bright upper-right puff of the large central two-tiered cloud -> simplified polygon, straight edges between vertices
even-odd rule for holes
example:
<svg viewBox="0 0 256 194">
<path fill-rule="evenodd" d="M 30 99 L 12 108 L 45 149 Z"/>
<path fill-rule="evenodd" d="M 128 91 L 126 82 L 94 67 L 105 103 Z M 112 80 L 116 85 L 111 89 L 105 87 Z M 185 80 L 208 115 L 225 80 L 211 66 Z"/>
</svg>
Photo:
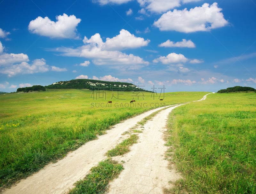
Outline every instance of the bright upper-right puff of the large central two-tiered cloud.
<svg viewBox="0 0 256 194">
<path fill-rule="evenodd" d="M 119 35 L 113 38 L 107 38 L 105 42 L 106 50 L 123 50 L 129 48 L 139 48 L 147 46 L 150 40 L 144 40 L 144 38 L 136 37 L 129 31 L 122 29 Z"/>
</svg>

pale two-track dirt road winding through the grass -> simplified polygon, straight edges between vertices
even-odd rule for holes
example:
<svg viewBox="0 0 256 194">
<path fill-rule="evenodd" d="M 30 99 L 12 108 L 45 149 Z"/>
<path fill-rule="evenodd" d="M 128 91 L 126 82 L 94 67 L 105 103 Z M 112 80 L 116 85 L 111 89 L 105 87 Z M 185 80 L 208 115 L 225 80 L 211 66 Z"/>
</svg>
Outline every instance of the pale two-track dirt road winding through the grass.
<svg viewBox="0 0 256 194">
<path fill-rule="evenodd" d="M 206 96 L 205 96 L 206 97 Z M 202 98 L 203 100 L 205 98 Z M 139 143 L 131 147 L 131 151 L 116 160 L 124 161 L 124 170 L 120 176 L 110 183 L 109 193 L 162 193 L 162 188 L 170 187 L 168 181 L 175 181 L 180 176 L 175 170 L 167 168 L 164 160 L 167 147 L 164 146 L 163 132 L 166 119 L 172 106 L 158 113 L 144 125 L 139 135 Z M 74 187 L 74 183 L 83 179 L 93 166 L 106 159 L 105 153 L 122 142 L 127 136 L 125 131 L 134 127 L 138 121 L 151 113 L 162 109 L 157 108 L 146 113 L 124 120 L 113 126 L 105 135 L 90 141 L 76 151 L 50 163 L 37 173 L 21 180 L 18 184 L 6 189 L 4 194 L 64 194 Z"/>
</svg>

